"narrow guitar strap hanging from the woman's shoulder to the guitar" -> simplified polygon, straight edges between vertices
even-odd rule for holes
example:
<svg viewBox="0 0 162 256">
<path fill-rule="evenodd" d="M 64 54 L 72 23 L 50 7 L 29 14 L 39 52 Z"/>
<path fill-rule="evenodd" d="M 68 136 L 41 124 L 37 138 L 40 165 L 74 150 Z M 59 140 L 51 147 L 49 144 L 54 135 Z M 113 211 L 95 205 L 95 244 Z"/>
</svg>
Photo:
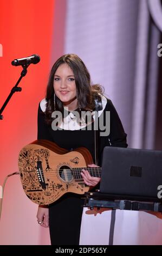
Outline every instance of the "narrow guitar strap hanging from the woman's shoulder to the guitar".
<svg viewBox="0 0 162 256">
<path fill-rule="evenodd" d="M 95 97 L 95 111 L 97 112 L 97 118 L 98 118 L 98 112 L 102 110 L 102 100 L 100 94 Z M 98 165 L 99 162 L 99 119 L 98 121 L 95 119 L 94 124 L 94 152 L 95 152 L 95 164 Z"/>
</svg>

